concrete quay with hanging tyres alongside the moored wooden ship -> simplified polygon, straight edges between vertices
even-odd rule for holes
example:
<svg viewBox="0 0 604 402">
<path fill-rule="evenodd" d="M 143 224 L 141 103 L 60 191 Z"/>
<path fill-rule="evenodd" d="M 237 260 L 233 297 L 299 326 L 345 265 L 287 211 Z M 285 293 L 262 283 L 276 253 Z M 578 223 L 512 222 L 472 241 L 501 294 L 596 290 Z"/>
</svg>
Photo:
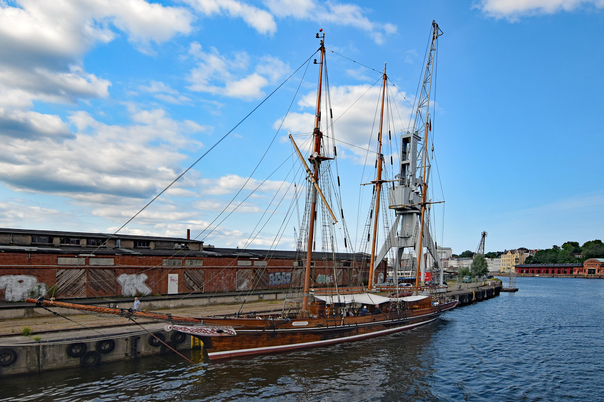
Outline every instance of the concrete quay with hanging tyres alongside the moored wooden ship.
<svg viewBox="0 0 604 402">
<path fill-rule="evenodd" d="M 478 287 L 474 284 L 447 292 L 448 297 L 460 301 L 458 306 L 499 294 L 499 286 Z M 181 316 L 228 315 L 239 309 L 243 313 L 262 313 L 280 311 L 284 298 L 285 294 L 280 292 L 263 292 L 248 296 L 246 303 L 242 305 L 243 298 L 233 294 L 186 298 L 149 297 L 141 298 L 141 308 Z M 132 298 L 79 300 L 76 303 L 130 307 Z M 13 311 L 8 314 L 7 310 Z M 0 304 L 0 316 L 6 313 L 5 315 L 15 317 L 0 321 L 0 377 L 94 366 L 170 353 L 170 348 L 188 350 L 200 346 L 196 342 L 198 340 L 190 335 L 176 331 L 166 332 L 165 324 L 155 321 L 137 320 L 135 323 L 120 316 L 100 318 L 74 310 L 53 310 L 61 316 L 30 303 Z"/>
</svg>

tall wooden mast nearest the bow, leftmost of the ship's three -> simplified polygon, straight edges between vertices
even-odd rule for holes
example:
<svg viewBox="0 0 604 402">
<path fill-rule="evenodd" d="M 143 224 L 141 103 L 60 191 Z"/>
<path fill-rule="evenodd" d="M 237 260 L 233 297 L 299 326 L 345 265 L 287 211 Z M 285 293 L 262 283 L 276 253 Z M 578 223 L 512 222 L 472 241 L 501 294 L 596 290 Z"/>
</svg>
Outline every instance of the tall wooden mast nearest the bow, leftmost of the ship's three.
<svg viewBox="0 0 604 402">
<path fill-rule="evenodd" d="M 319 34 L 316 34 L 319 37 Z M 312 132 L 313 136 L 313 152 L 309 157 L 309 162 L 313 166 L 313 177 L 315 181 L 319 180 L 319 168 L 321 165 L 321 142 L 323 140 L 323 133 L 319 130 L 319 124 L 321 122 L 321 81 L 323 81 L 323 58 L 325 56 L 325 33 L 321 38 L 321 61 L 319 66 L 319 83 L 316 91 L 316 112 L 315 112 L 315 129 Z M 302 294 L 302 315 L 306 316 L 308 307 L 308 297 L 310 293 L 310 269 L 312 262 L 312 249 L 314 244 L 314 232 L 315 232 L 315 219 L 316 219 L 316 194 L 315 187 L 312 187 L 311 204 L 310 204 L 310 217 L 308 223 L 308 242 L 306 245 L 306 266 L 304 268 L 304 289 Z"/>
</svg>

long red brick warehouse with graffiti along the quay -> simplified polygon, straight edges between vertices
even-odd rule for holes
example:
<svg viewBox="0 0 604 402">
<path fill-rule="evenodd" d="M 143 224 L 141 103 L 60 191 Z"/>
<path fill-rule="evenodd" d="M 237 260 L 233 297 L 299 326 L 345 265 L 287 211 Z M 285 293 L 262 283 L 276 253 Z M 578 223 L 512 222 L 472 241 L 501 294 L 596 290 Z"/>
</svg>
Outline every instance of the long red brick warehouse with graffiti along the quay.
<svg viewBox="0 0 604 402">
<path fill-rule="evenodd" d="M 367 254 L 313 253 L 315 286 L 368 278 Z M 295 251 L 204 247 L 178 237 L 0 228 L 0 300 L 95 298 L 301 287 Z M 386 275 L 382 261 L 376 269 Z"/>
</svg>

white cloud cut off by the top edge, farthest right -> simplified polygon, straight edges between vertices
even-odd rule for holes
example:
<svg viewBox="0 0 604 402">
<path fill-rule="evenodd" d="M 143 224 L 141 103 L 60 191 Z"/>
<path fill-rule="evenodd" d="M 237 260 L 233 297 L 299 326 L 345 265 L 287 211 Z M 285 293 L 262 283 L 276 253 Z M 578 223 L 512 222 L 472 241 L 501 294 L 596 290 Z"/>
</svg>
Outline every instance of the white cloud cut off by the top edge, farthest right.
<svg viewBox="0 0 604 402">
<path fill-rule="evenodd" d="M 475 7 L 489 16 L 513 21 L 521 16 L 574 11 L 589 5 L 604 8 L 602 0 L 481 0 Z"/>
</svg>

